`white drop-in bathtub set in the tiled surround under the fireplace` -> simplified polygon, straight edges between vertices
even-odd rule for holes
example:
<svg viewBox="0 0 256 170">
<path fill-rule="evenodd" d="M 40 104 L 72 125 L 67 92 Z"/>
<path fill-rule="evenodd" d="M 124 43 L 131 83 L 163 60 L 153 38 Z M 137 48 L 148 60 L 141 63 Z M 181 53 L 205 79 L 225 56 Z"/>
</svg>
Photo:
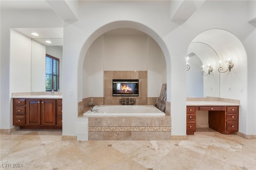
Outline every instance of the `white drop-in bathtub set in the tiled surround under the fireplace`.
<svg viewBox="0 0 256 170">
<path fill-rule="evenodd" d="M 165 116 L 165 113 L 152 105 L 100 105 L 96 111 L 87 111 L 84 116 Z"/>
</svg>

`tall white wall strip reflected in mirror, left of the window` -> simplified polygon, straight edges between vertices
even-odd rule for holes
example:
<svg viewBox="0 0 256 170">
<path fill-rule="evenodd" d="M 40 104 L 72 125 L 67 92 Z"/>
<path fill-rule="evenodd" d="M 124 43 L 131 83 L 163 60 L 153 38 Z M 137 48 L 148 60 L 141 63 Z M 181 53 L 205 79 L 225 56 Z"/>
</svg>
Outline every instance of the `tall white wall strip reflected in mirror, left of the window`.
<svg viewBox="0 0 256 170">
<path fill-rule="evenodd" d="M 45 91 L 45 45 L 32 40 L 31 91 Z"/>
</svg>

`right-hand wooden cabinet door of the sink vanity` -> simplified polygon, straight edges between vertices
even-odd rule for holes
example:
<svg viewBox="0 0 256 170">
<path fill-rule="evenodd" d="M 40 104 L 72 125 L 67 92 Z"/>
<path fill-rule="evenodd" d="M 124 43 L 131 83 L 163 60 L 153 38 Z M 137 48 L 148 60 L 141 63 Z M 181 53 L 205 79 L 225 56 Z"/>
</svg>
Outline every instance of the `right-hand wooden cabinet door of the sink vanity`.
<svg viewBox="0 0 256 170">
<path fill-rule="evenodd" d="M 56 99 L 41 100 L 41 125 L 56 125 Z"/>
</svg>

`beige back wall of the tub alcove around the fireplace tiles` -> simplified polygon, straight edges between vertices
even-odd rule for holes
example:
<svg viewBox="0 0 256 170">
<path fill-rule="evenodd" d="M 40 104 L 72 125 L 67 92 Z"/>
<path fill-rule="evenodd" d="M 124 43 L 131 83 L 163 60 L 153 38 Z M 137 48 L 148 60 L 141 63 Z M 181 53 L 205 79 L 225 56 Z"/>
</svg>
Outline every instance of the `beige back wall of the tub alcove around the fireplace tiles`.
<svg viewBox="0 0 256 170">
<path fill-rule="evenodd" d="M 83 66 L 83 98 L 104 96 L 104 71 L 148 71 L 148 97 L 166 82 L 162 50 L 150 36 L 103 34 L 90 46 Z M 165 71 L 165 73 L 163 73 Z"/>
</svg>

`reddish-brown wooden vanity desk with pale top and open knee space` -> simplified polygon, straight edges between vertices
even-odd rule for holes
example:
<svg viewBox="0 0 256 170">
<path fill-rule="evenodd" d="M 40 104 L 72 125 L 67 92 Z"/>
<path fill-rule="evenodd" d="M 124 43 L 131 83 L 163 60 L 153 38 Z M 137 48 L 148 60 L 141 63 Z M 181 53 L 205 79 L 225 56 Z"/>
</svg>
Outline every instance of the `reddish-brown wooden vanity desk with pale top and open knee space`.
<svg viewBox="0 0 256 170">
<path fill-rule="evenodd" d="M 196 132 L 196 111 L 208 111 L 209 128 L 222 134 L 238 132 L 239 104 L 224 101 L 187 101 L 187 134 Z"/>
</svg>

